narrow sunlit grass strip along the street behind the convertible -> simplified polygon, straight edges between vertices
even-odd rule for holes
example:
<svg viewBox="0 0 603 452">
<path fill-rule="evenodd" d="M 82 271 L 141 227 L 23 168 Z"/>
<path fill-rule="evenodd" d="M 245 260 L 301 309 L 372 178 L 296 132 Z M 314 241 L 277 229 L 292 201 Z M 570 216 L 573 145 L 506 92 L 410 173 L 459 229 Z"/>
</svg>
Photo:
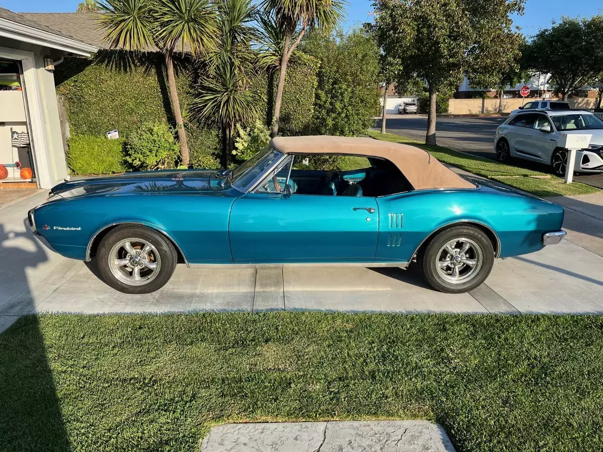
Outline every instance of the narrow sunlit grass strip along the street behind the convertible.
<svg viewBox="0 0 603 452">
<path fill-rule="evenodd" d="M 481 157 L 455 151 L 450 148 L 444 148 L 443 146 L 428 146 L 424 142 L 402 137 L 393 133 L 382 134 L 377 130 L 370 129 L 368 130 L 368 135 L 377 140 L 418 146 L 431 152 L 431 154 L 442 163 L 456 166 L 456 168 L 464 169 L 472 174 L 497 180 L 520 190 L 534 193 L 534 195 L 537 196 L 587 195 L 589 193 L 598 193 L 601 191 L 595 187 L 579 182 L 566 184 L 563 179 L 555 176 L 551 176 L 551 178 L 548 179 L 534 178 L 534 176 L 550 176 L 550 174 L 519 168 L 518 166 L 505 165 L 505 163 L 494 162 L 489 159 L 482 159 Z"/>
</svg>

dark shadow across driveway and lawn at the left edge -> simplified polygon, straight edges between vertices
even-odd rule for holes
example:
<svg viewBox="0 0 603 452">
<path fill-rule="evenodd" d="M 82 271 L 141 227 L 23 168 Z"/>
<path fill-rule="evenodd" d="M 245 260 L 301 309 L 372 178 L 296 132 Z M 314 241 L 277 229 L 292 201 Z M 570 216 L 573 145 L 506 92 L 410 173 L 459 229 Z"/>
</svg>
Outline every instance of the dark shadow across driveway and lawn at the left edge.
<svg viewBox="0 0 603 452">
<path fill-rule="evenodd" d="M 0 331 L 34 309 L 36 294 L 27 269 L 48 259 L 26 225 L 25 231 L 6 231 L 5 224 L 0 224 Z M 0 332 L 0 450 L 71 450 L 34 315 L 21 317 Z"/>
</svg>

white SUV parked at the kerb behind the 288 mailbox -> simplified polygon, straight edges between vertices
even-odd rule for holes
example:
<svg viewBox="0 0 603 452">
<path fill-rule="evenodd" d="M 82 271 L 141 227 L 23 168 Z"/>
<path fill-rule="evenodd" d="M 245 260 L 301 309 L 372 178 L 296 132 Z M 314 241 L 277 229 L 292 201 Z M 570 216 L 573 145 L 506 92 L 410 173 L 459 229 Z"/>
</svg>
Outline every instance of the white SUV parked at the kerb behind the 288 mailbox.
<svg viewBox="0 0 603 452">
<path fill-rule="evenodd" d="M 561 132 L 592 134 L 589 148 L 576 152 L 574 171 L 603 172 L 603 121 L 582 110 L 532 110 L 510 116 L 496 129 L 496 157 L 500 162 L 517 157 L 546 163 L 563 176 L 567 149 L 557 146 Z"/>
</svg>

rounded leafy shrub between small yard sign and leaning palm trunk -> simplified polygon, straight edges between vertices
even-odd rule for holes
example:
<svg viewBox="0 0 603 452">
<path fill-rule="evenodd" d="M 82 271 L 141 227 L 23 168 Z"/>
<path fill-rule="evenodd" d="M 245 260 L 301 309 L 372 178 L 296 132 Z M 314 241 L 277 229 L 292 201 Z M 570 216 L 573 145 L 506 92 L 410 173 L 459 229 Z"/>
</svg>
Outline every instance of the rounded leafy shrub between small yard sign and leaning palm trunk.
<svg viewBox="0 0 603 452">
<path fill-rule="evenodd" d="M 180 155 L 180 144 L 174 138 L 174 130 L 165 122 L 143 124 L 131 134 L 124 146 L 125 161 L 131 169 L 174 168 Z"/>
</svg>

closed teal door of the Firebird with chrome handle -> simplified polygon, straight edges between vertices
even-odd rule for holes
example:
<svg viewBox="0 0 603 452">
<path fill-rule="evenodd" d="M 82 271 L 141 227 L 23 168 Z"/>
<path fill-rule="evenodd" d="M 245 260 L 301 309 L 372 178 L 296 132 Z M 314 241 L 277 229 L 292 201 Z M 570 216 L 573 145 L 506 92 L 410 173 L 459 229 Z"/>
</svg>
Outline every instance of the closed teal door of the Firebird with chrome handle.
<svg viewBox="0 0 603 452">
<path fill-rule="evenodd" d="M 235 263 L 373 262 L 378 227 L 374 198 L 248 193 L 232 207 L 230 248 Z"/>
</svg>

